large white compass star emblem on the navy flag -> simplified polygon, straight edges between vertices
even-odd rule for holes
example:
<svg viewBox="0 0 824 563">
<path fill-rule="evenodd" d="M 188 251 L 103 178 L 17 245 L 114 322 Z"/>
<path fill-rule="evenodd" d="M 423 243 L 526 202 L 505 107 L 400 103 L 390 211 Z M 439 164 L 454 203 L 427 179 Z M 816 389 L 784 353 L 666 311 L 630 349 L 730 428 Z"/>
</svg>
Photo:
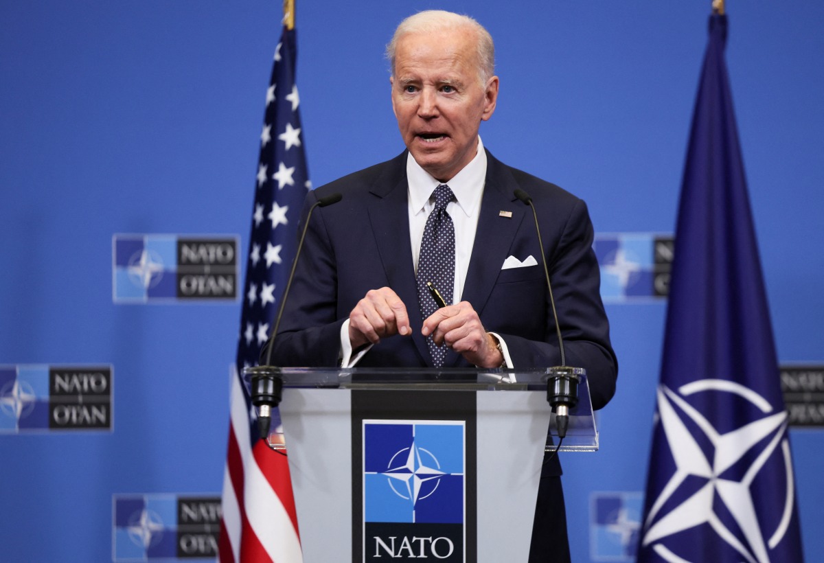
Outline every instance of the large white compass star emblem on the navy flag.
<svg viewBox="0 0 824 563">
<path fill-rule="evenodd" d="M 751 402 L 765 416 L 726 434 L 719 434 L 709 420 L 683 398 L 696 392 L 735 393 Z M 685 418 L 681 418 L 676 406 L 685 413 Z M 750 486 L 765 462 L 775 452 L 775 448 L 782 442 L 784 467 L 792 467 L 792 460 L 789 458 L 789 444 L 784 438 L 787 413 L 785 411 L 772 413 L 770 403 L 756 392 L 739 383 L 722 379 L 698 380 L 680 387 L 678 393 L 662 385 L 658 389 L 658 413 L 676 470 L 649 511 L 646 523 L 648 529 L 644 533 L 643 545 L 654 544 L 653 550 L 667 561 L 684 561 L 670 551 L 661 540 L 706 523 L 723 542 L 728 543 L 747 561 L 759 563 L 769 561 L 767 546 L 775 547 L 783 539 L 792 514 L 795 497 L 792 471 L 787 472 L 783 516 L 767 542 L 764 541 L 761 533 Z M 705 434 L 706 439 L 709 439 L 712 445 L 709 456 L 705 454 L 695 437 L 690 434 L 685 423 L 686 419 L 697 425 Z M 752 456 L 754 461 L 742 472 L 740 480 L 724 476 L 728 469 L 741 463 L 747 453 L 754 454 Z M 686 500 L 667 514 L 659 514 L 667 500 L 681 490 L 686 481 L 694 483 L 696 478 L 705 481 L 695 493 L 689 495 Z M 714 503 L 717 500 L 735 519 L 746 538 L 747 545 L 739 541 L 715 513 Z M 652 523 L 651 526 L 650 523 Z"/>
</svg>

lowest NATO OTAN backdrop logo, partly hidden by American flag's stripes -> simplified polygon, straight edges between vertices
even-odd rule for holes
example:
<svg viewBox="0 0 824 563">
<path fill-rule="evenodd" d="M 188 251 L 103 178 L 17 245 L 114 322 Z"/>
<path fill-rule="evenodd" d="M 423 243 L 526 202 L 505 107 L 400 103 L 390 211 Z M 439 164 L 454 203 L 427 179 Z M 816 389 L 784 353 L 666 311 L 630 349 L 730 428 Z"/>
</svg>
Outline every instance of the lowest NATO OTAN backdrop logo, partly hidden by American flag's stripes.
<svg viewBox="0 0 824 563">
<path fill-rule="evenodd" d="M 214 559 L 218 495 L 113 495 L 112 561 Z"/>
</svg>

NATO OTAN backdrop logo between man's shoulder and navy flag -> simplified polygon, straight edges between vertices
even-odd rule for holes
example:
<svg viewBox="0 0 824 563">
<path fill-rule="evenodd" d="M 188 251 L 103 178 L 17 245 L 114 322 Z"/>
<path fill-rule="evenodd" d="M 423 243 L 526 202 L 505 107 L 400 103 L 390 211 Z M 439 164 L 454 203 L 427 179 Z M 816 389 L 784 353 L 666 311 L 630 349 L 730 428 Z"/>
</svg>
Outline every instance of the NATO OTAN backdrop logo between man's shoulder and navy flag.
<svg viewBox="0 0 824 563">
<path fill-rule="evenodd" d="M 647 232 L 597 234 L 592 249 L 601 267 L 605 302 L 666 298 L 672 270 L 672 235 Z"/>
</svg>

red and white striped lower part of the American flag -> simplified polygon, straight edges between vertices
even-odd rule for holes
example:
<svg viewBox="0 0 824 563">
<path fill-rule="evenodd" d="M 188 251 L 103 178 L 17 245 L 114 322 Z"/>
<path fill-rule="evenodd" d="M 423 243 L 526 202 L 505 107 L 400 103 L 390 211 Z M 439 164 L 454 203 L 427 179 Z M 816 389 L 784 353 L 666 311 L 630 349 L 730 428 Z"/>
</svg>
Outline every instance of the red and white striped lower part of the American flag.
<svg viewBox="0 0 824 563">
<path fill-rule="evenodd" d="M 302 563 L 286 456 L 264 440 L 250 448 L 250 418 L 240 378 L 232 378 L 229 447 L 223 476 L 222 563 Z"/>
</svg>

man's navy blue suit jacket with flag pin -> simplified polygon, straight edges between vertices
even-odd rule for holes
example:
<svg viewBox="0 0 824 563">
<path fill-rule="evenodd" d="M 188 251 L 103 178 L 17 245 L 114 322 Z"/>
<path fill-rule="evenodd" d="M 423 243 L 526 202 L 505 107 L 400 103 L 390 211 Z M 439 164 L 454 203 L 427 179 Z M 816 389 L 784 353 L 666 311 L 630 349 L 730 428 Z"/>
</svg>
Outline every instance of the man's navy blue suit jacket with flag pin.
<svg viewBox="0 0 824 563">
<path fill-rule="evenodd" d="M 410 244 L 406 152 L 344 176 L 307 195 L 311 204 L 334 193 L 343 199 L 317 208 L 288 297 L 273 360 L 280 366 L 338 364 L 340 326 L 370 289 L 393 289 L 405 303 L 411 336 L 392 336 L 358 363 L 369 367 L 432 366 L 419 313 Z M 531 209 L 516 199 L 520 188 L 535 204 L 567 365 L 587 369 L 592 406 L 615 391 L 617 363 L 599 293 L 587 206 L 569 192 L 508 167 L 487 152 L 484 195 L 461 299 L 471 303 L 487 331 L 506 341 L 515 368 L 560 364 L 555 322 L 541 265 Z M 502 216 L 500 211 L 512 213 Z M 301 225 L 302 228 L 302 225 Z M 503 260 L 533 256 L 538 264 L 502 270 Z M 445 367 L 467 366 L 449 350 Z"/>
</svg>

